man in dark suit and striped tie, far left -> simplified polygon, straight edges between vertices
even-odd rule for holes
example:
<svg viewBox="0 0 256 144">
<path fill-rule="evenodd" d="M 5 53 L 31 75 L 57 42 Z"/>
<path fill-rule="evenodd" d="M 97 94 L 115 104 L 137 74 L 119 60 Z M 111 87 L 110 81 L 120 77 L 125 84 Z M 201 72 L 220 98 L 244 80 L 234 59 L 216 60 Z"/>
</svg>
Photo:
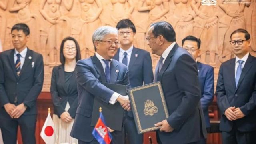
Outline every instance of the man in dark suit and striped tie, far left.
<svg viewBox="0 0 256 144">
<path fill-rule="evenodd" d="M 24 144 L 35 144 L 36 99 L 44 81 L 43 57 L 27 48 L 29 28 L 12 27 L 14 49 L 0 54 L 0 127 L 5 144 L 16 144 L 20 126 Z"/>
</svg>

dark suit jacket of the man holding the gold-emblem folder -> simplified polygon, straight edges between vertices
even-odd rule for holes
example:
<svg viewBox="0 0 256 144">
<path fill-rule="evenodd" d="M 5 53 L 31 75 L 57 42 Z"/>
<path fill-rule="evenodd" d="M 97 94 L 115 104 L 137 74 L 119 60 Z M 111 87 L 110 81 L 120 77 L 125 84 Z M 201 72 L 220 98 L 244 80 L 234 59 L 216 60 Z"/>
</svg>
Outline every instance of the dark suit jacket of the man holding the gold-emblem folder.
<svg viewBox="0 0 256 144">
<path fill-rule="evenodd" d="M 167 122 L 174 128 L 172 132 L 157 131 L 161 142 L 186 144 L 206 138 L 198 68 L 192 56 L 175 44 L 156 81 L 161 81 L 170 114 Z"/>
</svg>

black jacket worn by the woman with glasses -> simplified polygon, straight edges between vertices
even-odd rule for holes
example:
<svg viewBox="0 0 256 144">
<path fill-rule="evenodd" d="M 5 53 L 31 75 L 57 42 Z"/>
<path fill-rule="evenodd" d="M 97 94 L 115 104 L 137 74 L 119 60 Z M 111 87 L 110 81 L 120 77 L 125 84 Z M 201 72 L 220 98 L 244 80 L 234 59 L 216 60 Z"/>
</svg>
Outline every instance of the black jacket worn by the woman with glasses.
<svg viewBox="0 0 256 144">
<path fill-rule="evenodd" d="M 76 108 L 78 106 L 78 96 L 77 96 L 77 84 L 76 84 L 76 74 L 75 72 L 71 77 L 70 85 L 72 88 L 76 89 L 73 94 L 68 94 L 68 87 L 65 84 L 65 73 L 64 65 L 56 66 L 52 70 L 52 81 L 51 81 L 51 95 L 52 103 L 54 106 L 54 114 L 60 115 L 65 112 L 65 107 L 67 102 L 70 104 L 68 113 L 72 118 L 76 116 Z"/>
</svg>

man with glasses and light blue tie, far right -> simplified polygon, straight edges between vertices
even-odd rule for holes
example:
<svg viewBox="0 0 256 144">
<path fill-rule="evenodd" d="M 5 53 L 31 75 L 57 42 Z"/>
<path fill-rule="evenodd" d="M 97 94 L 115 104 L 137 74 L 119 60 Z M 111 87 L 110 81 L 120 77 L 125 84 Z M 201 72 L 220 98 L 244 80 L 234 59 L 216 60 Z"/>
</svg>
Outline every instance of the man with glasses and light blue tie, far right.
<svg viewBox="0 0 256 144">
<path fill-rule="evenodd" d="M 236 56 L 221 64 L 216 86 L 223 144 L 256 142 L 256 58 L 249 54 L 250 34 L 235 30 L 230 45 Z"/>
</svg>

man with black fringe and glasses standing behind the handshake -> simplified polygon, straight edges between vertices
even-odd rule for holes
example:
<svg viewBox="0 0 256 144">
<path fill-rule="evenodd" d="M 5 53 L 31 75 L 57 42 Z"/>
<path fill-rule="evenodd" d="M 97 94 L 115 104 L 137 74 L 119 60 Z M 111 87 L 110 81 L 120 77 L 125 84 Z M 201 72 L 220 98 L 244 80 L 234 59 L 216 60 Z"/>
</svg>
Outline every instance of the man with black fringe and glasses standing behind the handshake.
<svg viewBox="0 0 256 144">
<path fill-rule="evenodd" d="M 118 29 L 120 48 L 114 59 L 128 66 L 131 87 L 152 83 L 153 71 L 150 53 L 133 46 L 133 40 L 136 34 L 134 24 L 131 20 L 124 19 L 117 23 L 116 28 Z M 143 143 L 143 134 L 137 133 L 132 112 L 128 112 L 126 115 L 124 126 L 130 144 Z"/>
</svg>

